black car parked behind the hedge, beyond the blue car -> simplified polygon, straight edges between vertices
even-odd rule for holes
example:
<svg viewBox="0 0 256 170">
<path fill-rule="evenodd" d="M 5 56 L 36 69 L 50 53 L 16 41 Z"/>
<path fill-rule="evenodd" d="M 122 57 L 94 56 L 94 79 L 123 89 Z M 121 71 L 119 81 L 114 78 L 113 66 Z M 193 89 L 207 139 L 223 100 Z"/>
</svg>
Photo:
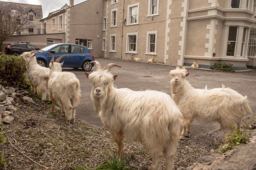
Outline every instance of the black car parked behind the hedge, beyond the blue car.
<svg viewBox="0 0 256 170">
<path fill-rule="evenodd" d="M 9 46 L 5 47 L 5 54 L 11 55 L 20 55 L 23 52 L 40 50 L 40 48 L 31 45 L 30 43 L 14 43 L 9 44 Z"/>
</svg>

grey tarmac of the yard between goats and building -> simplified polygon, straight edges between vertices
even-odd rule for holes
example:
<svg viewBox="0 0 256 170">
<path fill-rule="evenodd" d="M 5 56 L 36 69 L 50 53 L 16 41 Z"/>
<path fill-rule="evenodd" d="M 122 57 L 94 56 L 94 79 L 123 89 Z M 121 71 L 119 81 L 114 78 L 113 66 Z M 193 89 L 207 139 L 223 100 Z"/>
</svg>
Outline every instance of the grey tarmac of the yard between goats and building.
<svg viewBox="0 0 256 170">
<path fill-rule="evenodd" d="M 108 63 L 116 63 L 122 68 L 113 67 L 112 74 L 118 77 L 114 84 L 117 88 L 130 88 L 131 90 L 157 90 L 170 95 L 170 70 L 175 69 L 172 66 L 159 64 L 131 62 L 125 60 L 95 58 L 101 63 L 102 68 Z M 95 70 L 93 67 L 92 71 Z M 82 69 L 65 68 L 63 71 L 74 72 L 80 80 L 81 102 L 76 109 L 76 118 L 82 119 L 89 124 L 103 126 L 98 113 L 93 110 L 93 103 L 90 99 L 91 84 L 84 75 Z M 92 72 L 91 71 L 91 72 Z M 249 105 L 253 113 L 256 113 L 256 71 L 250 72 L 216 72 L 206 70 L 189 69 L 187 80 L 195 88 L 219 88 L 222 84 L 236 90 L 242 95 L 247 95 Z M 191 134 L 201 134 L 214 130 L 219 127 L 218 123 L 199 123 L 193 122 L 191 125 Z"/>
</svg>

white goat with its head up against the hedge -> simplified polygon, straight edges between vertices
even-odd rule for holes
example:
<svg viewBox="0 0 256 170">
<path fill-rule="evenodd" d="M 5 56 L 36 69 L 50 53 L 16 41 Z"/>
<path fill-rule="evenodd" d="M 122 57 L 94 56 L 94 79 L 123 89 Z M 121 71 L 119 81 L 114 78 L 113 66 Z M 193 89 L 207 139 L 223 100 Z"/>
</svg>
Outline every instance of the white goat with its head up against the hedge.
<svg viewBox="0 0 256 170">
<path fill-rule="evenodd" d="M 44 101 L 46 99 L 50 69 L 37 64 L 37 59 L 35 58 L 35 54 L 33 54 L 34 52 L 39 51 L 23 52 L 22 58 L 26 62 L 27 78 L 29 79 L 32 91 L 38 94 L 39 88 L 39 91 L 42 93 L 41 99 Z"/>
</svg>

